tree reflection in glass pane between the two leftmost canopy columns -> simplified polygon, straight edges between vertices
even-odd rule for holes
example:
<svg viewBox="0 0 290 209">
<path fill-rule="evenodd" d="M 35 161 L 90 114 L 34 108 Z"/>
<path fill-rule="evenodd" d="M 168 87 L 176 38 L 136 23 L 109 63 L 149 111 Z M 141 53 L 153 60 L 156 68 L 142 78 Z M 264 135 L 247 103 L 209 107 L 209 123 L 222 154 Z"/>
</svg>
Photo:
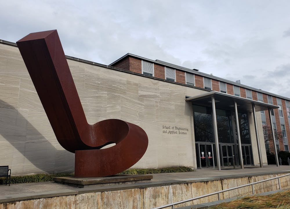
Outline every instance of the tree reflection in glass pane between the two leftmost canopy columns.
<svg viewBox="0 0 290 209">
<path fill-rule="evenodd" d="M 217 115 L 218 138 L 221 143 L 231 143 L 229 118 Z"/>
</svg>

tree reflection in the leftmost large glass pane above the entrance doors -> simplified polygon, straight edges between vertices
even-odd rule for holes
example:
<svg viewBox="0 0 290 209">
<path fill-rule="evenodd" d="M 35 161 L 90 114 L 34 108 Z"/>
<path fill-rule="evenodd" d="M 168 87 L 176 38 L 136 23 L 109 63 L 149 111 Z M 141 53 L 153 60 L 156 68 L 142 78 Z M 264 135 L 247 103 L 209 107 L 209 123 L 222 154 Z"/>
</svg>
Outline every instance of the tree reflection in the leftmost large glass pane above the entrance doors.
<svg viewBox="0 0 290 209">
<path fill-rule="evenodd" d="M 214 142 L 211 114 L 194 113 L 195 141 Z"/>
</svg>

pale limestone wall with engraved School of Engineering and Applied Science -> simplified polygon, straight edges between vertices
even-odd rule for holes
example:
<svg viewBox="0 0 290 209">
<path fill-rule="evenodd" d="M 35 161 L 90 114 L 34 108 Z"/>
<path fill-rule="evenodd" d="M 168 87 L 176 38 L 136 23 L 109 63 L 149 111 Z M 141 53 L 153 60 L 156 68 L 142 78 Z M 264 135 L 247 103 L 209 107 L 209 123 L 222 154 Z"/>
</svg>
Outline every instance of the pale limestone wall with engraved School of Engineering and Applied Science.
<svg viewBox="0 0 290 209">
<path fill-rule="evenodd" d="M 193 114 L 185 96 L 205 91 L 68 60 L 88 123 L 142 127 L 148 149 L 136 168 L 196 168 Z M 12 175 L 74 170 L 55 137 L 17 47 L 0 44 L 0 159 Z"/>
</svg>

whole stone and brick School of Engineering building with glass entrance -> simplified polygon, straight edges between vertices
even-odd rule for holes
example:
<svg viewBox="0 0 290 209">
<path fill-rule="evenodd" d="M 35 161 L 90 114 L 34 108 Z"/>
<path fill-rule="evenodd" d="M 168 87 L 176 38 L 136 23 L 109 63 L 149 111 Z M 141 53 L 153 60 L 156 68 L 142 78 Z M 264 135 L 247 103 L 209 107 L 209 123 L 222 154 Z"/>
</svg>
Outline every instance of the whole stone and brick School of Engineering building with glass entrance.
<svg viewBox="0 0 290 209">
<path fill-rule="evenodd" d="M 287 97 L 132 54 L 108 66 L 67 61 L 88 123 L 121 119 L 147 133 L 135 168 L 267 164 L 273 143 L 265 146 L 262 125 L 270 124 L 269 109 L 284 137 L 276 147 L 289 151 Z M 2 40 L 0 85 L 1 164 L 13 175 L 73 171 L 74 154 L 57 142 L 16 44 Z"/>
</svg>

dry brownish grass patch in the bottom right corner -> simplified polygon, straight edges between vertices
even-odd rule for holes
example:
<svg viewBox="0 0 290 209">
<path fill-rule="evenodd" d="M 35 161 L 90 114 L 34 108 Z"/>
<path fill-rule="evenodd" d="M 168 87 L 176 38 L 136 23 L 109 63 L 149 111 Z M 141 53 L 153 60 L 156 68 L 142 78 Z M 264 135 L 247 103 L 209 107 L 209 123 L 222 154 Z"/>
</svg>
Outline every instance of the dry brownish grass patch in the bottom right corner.
<svg viewBox="0 0 290 209">
<path fill-rule="evenodd" d="M 251 208 L 251 209 L 290 209 L 290 190 L 275 193 L 267 196 L 248 196 L 228 203 L 222 203 L 214 209 L 233 209 L 233 208 Z"/>
</svg>

